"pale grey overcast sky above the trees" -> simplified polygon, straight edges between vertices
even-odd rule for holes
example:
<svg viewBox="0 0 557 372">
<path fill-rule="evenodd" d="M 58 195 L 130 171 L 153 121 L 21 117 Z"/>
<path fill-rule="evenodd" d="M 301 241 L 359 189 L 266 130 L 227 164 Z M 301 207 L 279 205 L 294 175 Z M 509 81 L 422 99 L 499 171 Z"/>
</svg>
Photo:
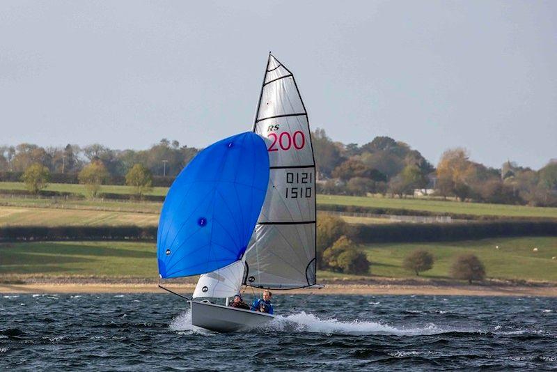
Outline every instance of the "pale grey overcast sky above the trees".
<svg viewBox="0 0 557 372">
<path fill-rule="evenodd" d="M 269 50 L 334 140 L 557 157 L 557 1 L 2 0 L 0 144 L 207 146 L 251 129 Z"/>
</svg>

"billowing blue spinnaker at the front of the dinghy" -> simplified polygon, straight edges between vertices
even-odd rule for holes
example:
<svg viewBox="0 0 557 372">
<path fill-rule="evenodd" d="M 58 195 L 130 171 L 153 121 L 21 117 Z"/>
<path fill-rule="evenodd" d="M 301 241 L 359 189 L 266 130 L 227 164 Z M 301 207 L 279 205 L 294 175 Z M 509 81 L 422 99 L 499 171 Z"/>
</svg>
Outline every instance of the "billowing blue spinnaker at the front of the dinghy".
<svg viewBox="0 0 557 372">
<path fill-rule="evenodd" d="M 168 190 L 157 235 L 162 278 L 223 268 L 244 255 L 269 183 L 269 155 L 246 132 L 198 153 Z"/>
</svg>

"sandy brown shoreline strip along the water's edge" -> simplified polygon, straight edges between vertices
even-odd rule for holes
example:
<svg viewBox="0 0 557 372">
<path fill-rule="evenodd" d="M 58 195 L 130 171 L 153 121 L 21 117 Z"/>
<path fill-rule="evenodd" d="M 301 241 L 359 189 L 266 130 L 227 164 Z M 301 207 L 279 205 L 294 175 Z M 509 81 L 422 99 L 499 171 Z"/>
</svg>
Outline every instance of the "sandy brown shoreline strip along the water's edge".
<svg viewBox="0 0 557 372">
<path fill-rule="evenodd" d="M 191 294 L 194 284 L 169 284 L 179 293 Z M 164 293 L 155 283 L 84 283 L 42 282 L 26 284 L 0 283 L 0 294 L 38 293 Z M 251 289 L 245 293 L 251 295 Z M 258 290 L 255 290 L 258 293 Z M 430 285 L 430 284 L 327 284 L 325 288 L 276 290 L 276 295 L 466 295 L 466 296 L 536 296 L 557 297 L 557 285 L 509 286 L 509 285 Z"/>
</svg>

